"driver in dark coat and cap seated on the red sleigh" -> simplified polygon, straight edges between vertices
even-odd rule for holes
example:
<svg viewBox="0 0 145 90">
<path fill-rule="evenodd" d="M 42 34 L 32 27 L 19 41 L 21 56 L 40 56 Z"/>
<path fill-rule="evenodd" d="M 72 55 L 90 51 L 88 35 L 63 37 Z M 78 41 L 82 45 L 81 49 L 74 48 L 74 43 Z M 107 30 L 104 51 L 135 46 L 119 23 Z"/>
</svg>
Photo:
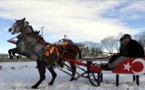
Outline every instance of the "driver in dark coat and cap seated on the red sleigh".
<svg viewBox="0 0 145 90">
<path fill-rule="evenodd" d="M 102 70 L 112 70 L 120 62 L 125 61 L 128 58 L 144 57 L 144 49 L 136 40 L 133 40 L 129 34 L 124 34 L 122 38 L 123 38 L 122 55 L 112 63 L 108 63 L 106 65 L 101 64 L 100 67 Z"/>
</svg>

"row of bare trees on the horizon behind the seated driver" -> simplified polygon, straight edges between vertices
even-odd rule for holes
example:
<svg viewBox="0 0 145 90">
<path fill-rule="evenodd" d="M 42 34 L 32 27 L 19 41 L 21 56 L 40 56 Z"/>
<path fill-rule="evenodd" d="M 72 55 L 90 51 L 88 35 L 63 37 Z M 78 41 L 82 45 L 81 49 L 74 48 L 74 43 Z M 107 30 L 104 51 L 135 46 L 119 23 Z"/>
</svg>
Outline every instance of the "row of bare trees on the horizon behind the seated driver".
<svg viewBox="0 0 145 90">
<path fill-rule="evenodd" d="M 119 40 L 123 35 L 123 33 L 119 33 L 117 36 L 105 37 L 100 43 L 89 41 L 83 43 L 85 46 L 82 48 L 82 56 L 105 57 L 114 53 L 118 53 L 120 47 Z M 138 33 L 135 36 L 132 36 L 132 38 L 138 41 L 145 49 L 145 32 Z"/>
</svg>

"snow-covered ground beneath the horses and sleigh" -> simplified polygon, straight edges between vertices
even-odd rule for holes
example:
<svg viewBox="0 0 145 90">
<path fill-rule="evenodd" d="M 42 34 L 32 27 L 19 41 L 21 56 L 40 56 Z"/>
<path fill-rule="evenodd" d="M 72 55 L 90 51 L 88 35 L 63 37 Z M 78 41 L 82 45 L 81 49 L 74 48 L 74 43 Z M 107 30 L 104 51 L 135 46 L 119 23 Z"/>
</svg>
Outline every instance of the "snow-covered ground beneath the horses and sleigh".
<svg viewBox="0 0 145 90">
<path fill-rule="evenodd" d="M 36 62 L 0 63 L 0 90 L 34 90 L 31 86 L 39 80 Z M 55 69 L 58 76 L 53 86 L 49 86 L 51 74 L 47 70 L 46 80 L 37 90 L 145 90 L 145 76 L 140 77 L 140 86 L 132 81 L 132 75 L 120 75 L 120 85 L 115 86 L 115 74 L 104 74 L 100 87 L 93 87 L 88 79 L 80 78 L 70 82 L 70 76 Z"/>
</svg>

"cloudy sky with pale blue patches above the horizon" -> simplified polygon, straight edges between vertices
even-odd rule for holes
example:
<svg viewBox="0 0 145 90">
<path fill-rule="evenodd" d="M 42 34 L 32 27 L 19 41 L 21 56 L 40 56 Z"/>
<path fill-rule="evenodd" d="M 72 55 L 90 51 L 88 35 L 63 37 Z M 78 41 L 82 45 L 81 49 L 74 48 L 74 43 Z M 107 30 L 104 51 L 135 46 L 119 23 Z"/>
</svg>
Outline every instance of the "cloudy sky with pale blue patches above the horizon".
<svg viewBox="0 0 145 90">
<path fill-rule="evenodd" d="M 145 0 L 0 0 L 0 53 L 15 45 L 8 32 L 15 19 L 26 18 L 44 39 L 56 42 L 67 35 L 74 42 L 100 42 L 108 36 L 145 31 Z"/>
</svg>

